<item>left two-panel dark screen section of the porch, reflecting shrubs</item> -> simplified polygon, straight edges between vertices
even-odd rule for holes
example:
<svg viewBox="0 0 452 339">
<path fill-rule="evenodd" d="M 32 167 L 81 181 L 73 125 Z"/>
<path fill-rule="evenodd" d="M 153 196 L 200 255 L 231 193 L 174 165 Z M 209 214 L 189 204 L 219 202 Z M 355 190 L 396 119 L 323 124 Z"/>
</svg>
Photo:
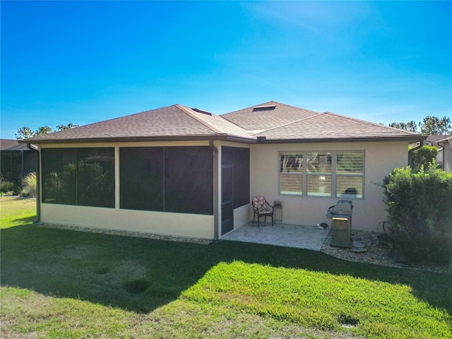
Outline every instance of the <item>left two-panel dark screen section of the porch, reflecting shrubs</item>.
<svg viewBox="0 0 452 339">
<path fill-rule="evenodd" d="M 114 148 L 44 148 L 42 202 L 114 208 Z"/>
</svg>

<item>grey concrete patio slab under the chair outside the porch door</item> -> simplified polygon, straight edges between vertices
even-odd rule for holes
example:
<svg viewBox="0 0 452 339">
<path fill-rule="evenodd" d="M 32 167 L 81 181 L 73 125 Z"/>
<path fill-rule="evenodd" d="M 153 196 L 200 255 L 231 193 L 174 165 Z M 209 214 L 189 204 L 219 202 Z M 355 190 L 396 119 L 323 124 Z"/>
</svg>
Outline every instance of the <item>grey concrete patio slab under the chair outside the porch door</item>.
<svg viewBox="0 0 452 339">
<path fill-rule="evenodd" d="M 242 227 L 233 230 L 221 238 L 236 242 L 254 242 L 275 246 L 296 247 L 297 249 L 311 249 L 320 251 L 328 236 L 329 230 L 319 230 L 317 226 L 300 226 L 288 224 L 275 224 L 271 222 L 248 222 Z"/>
</svg>

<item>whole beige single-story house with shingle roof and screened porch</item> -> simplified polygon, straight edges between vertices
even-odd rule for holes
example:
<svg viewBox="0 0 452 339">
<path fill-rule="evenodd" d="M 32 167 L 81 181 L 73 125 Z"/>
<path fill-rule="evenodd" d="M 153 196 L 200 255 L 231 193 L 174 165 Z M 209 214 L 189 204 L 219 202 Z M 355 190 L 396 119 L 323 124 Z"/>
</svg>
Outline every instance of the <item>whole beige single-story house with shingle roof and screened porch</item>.
<svg viewBox="0 0 452 339">
<path fill-rule="evenodd" d="M 20 141 L 38 145 L 44 222 L 216 239 L 252 220 L 316 225 L 351 199 L 353 228 L 386 220 L 381 183 L 424 136 L 279 102 L 223 115 L 173 105 Z"/>
</svg>

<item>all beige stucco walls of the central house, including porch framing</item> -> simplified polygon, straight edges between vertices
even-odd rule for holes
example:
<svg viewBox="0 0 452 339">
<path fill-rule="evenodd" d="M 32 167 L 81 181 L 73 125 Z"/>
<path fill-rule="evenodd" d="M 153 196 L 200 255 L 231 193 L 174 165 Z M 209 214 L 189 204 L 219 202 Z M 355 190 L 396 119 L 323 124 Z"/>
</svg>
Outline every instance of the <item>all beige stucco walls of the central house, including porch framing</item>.
<svg viewBox="0 0 452 339">
<path fill-rule="evenodd" d="M 221 234 L 221 199 L 214 199 L 217 212 L 213 215 L 193 215 L 182 213 L 162 213 L 142 210 L 119 209 L 119 147 L 209 145 L 208 141 L 155 142 L 155 143 L 95 143 L 44 145 L 45 148 L 68 147 L 114 147 L 115 149 L 115 208 L 93 208 L 86 206 L 65 206 L 42 203 L 41 220 L 62 225 L 79 225 L 111 230 L 132 230 L 155 234 L 172 234 L 184 237 L 213 239 Z M 312 198 L 278 195 L 278 153 L 282 151 L 337 151 L 364 150 L 364 199 L 353 201 L 353 228 L 376 230 L 379 222 L 386 220 L 382 202 L 383 189 L 374 183 L 381 182 L 393 168 L 403 167 L 408 162 L 408 144 L 405 142 L 386 143 L 293 143 L 293 144 L 244 144 L 215 141 L 218 161 L 221 164 L 221 146 L 250 148 L 250 198 L 265 196 L 269 202 L 283 203 L 283 222 L 295 225 L 316 225 L 330 222 L 324 218 L 326 209 L 337 198 Z M 221 183 L 221 165 L 218 169 Z M 214 176 L 215 177 L 215 176 Z M 221 185 L 214 192 L 221 197 Z M 215 194 L 215 193 L 214 193 Z M 252 220 L 252 209 L 248 204 L 234 210 L 234 229 Z M 217 227 L 217 232 L 215 232 Z"/>
</svg>

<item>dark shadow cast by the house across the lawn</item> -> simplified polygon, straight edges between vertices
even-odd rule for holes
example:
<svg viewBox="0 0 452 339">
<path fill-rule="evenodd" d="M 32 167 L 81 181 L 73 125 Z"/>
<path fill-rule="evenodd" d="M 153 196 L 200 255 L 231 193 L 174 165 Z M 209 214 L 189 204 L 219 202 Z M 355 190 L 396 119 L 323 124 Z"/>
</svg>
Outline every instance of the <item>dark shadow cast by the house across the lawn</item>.
<svg viewBox="0 0 452 339">
<path fill-rule="evenodd" d="M 410 285 L 413 294 L 452 314 L 452 275 L 350 263 L 316 251 L 242 242 L 212 245 L 55 230 L 1 230 L 1 285 L 83 299 L 138 313 L 177 299 L 220 262 L 302 268 Z"/>
</svg>

